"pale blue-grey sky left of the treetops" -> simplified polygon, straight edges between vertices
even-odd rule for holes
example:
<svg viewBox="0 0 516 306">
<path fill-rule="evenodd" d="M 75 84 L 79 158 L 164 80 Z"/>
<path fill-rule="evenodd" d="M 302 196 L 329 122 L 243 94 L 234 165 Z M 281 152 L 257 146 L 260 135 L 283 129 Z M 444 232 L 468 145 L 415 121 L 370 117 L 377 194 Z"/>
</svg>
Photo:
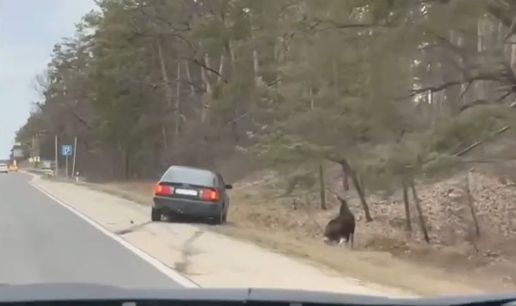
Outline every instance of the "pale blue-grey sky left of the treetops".
<svg viewBox="0 0 516 306">
<path fill-rule="evenodd" d="M 73 36 L 75 23 L 93 8 L 93 0 L 0 0 L 0 160 L 40 99 L 32 84 L 53 45 Z"/>
</svg>

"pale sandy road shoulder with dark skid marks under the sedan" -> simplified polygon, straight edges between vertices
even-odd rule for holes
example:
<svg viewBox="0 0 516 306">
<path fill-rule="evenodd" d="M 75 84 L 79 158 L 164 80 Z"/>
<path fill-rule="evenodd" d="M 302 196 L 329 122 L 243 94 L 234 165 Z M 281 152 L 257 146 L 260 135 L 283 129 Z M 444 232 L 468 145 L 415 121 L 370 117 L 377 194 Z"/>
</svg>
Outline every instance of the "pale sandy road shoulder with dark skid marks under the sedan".
<svg viewBox="0 0 516 306">
<path fill-rule="evenodd" d="M 150 208 L 86 186 L 35 176 L 32 185 L 202 287 L 285 288 L 414 296 L 216 233 L 208 225 L 150 222 Z"/>
</svg>

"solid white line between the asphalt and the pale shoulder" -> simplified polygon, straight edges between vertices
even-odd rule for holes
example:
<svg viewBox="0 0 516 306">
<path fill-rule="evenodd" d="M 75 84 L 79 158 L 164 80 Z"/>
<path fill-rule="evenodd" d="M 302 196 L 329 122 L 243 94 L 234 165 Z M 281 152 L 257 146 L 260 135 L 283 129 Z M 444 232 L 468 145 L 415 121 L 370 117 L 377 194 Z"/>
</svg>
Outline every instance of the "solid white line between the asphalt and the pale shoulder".
<svg viewBox="0 0 516 306">
<path fill-rule="evenodd" d="M 34 179 L 34 177 L 33 177 L 33 179 Z M 116 234 L 112 233 L 111 231 L 106 229 L 106 227 L 103 227 L 101 224 L 99 224 L 95 220 L 93 220 L 93 219 L 89 218 L 88 216 L 82 214 L 77 209 L 75 209 L 75 208 L 71 207 L 70 205 L 64 203 L 60 199 L 57 199 L 56 196 L 53 196 L 52 194 L 49 194 L 49 192 L 47 192 L 46 190 L 40 188 L 39 186 L 34 185 L 34 183 L 32 183 L 32 180 L 29 183 L 34 188 L 36 188 L 37 190 L 39 190 L 40 192 L 42 192 L 43 194 L 48 196 L 50 199 L 52 199 L 53 201 L 56 201 L 56 203 L 59 203 L 63 207 L 66 207 L 66 209 L 69 209 L 71 212 L 73 212 L 74 214 L 76 214 L 77 216 L 79 216 L 80 218 L 85 220 L 86 222 L 88 222 L 90 225 L 95 227 L 95 229 L 98 229 L 99 231 L 101 231 L 102 233 L 108 235 L 110 238 L 112 238 L 116 242 L 119 242 L 119 244 L 122 244 L 123 246 L 125 246 L 125 248 L 127 248 L 130 251 L 132 251 L 132 253 L 138 255 L 140 258 L 145 260 L 145 262 L 148 262 L 149 264 L 151 264 L 154 268 L 156 268 L 160 272 L 164 273 L 164 275 L 167 275 L 168 277 L 170 277 L 176 283 L 179 283 L 180 285 L 183 285 L 184 287 L 187 287 L 187 288 L 198 288 L 198 287 L 200 287 L 197 283 L 195 283 L 191 279 L 188 279 L 187 277 L 184 277 L 183 275 L 181 275 L 177 271 L 173 270 L 172 268 L 170 268 L 166 264 L 163 264 L 158 259 L 156 259 L 155 257 L 151 256 L 149 253 L 145 253 L 140 248 L 137 248 L 136 246 L 134 246 L 134 245 L 130 244 L 129 242 L 127 242 L 127 240 L 121 238 L 119 235 L 116 235 Z"/>
</svg>

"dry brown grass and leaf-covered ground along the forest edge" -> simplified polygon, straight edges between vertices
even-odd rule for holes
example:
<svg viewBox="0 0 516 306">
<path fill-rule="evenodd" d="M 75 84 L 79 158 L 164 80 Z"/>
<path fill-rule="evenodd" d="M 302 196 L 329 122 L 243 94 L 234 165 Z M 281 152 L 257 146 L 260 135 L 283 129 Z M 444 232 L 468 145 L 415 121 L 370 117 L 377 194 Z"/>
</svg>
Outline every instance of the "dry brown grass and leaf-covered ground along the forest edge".
<svg viewBox="0 0 516 306">
<path fill-rule="evenodd" d="M 514 292 L 516 290 L 516 188 L 494 175 L 473 171 L 439 183 L 418 184 L 418 196 L 430 234 L 422 239 L 415 207 L 413 231 L 405 230 L 400 194 L 368 197 L 373 222 L 365 222 L 353 194 L 345 194 L 358 220 L 356 248 L 349 251 L 322 242 L 338 205 L 332 196 L 342 185 L 338 169 L 328 175 L 328 210 L 319 209 L 316 190 L 284 189 L 277 173 L 261 171 L 235 182 L 230 191 L 228 225 L 215 230 L 250 240 L 279 253 L 317 263 L 342 275 L 410 290 L 421 295 Z M 465 203 L 465 177 L 480 226 L 474 234 Z M 103 184 L 101 188 L 150 205 L 154 182 Z"/>
</svg>

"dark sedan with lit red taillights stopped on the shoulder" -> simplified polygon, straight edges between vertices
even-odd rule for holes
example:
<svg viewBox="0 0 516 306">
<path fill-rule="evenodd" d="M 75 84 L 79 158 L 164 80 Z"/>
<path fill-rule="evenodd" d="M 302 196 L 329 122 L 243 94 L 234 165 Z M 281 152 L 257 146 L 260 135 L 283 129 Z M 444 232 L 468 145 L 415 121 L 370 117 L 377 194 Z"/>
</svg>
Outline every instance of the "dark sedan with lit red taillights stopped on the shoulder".
<svg viewBox="0 0 516 306">
<path fill-rule="evenodd" d="M 209 218 L 214 224 L 225 222 L 230 198 L 219 173 L 202 168 L 171 166 L 154 190 L 151 220 L 166 216 Z"/>
</svg>

